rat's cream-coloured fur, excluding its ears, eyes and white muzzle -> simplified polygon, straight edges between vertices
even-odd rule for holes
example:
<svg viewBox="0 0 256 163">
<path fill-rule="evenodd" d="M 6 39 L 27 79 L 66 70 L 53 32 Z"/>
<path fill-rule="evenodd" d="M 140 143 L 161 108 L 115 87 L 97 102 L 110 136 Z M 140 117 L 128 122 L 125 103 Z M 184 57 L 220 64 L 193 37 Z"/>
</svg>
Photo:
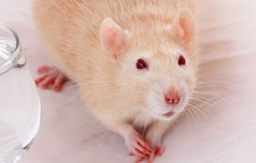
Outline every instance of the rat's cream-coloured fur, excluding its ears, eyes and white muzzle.
<svg viewBox="0 0 256 163">
<path fill-rule="evenodd" d="M 191 92 L 196 79 L 199 57 L 196 41 L 186 43 L 165 30 L 180 8 L 188 8 L 195 14 L 195 1 L 34 0 L 33 3 L 35 25 L 49 58 L 80 86 L 88 110 L 124 138 L 137 119 L 137 127 L 148 126 L 146 141 L 153 149 L 161 143 L 160 138 L 171 121 L 156 119 L 154 123 L 155 117 L 148 110 L 149 88 L 156 80 L 174 85 L 184 80 Z M 100 27 L 106 17 L 131 34 L 118 54 L 105 50 L 100 42 Z M 137 58 L 145 53 L 152 54 L 148 60 L 149 72 L 138 72 Z M 185 69 L 177 66 L 177 53 L 185 56 Z"/>
</svg>

